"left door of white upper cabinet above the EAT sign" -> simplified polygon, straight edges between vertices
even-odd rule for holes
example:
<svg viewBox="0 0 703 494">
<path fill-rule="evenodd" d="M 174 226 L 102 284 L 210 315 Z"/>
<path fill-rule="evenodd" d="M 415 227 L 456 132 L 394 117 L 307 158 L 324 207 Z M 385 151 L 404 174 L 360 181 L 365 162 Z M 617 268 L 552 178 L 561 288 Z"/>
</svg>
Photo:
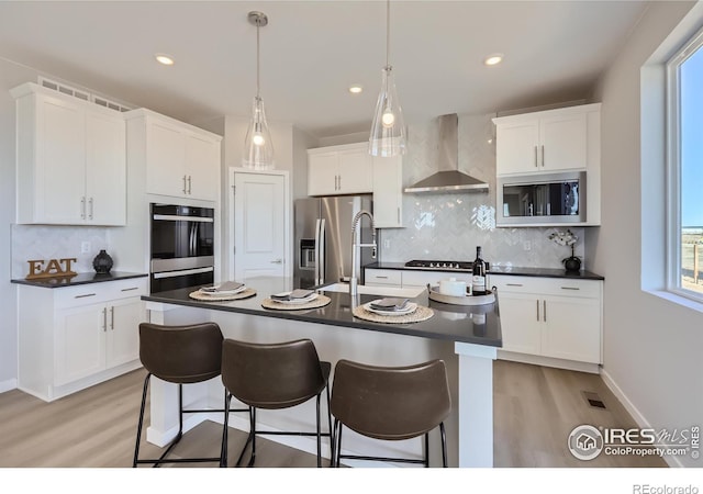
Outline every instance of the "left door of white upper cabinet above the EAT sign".
<svg viewBox="0 0 703 494">
<path fill-rule="evenodd" d="M 33 193 L 36 194 L 37 207 L 34 223 L 83 223 L 86 112 L 79 104 L 48 97 L 37 97 L 36 104 L 36 175 Z"/>
</svg>

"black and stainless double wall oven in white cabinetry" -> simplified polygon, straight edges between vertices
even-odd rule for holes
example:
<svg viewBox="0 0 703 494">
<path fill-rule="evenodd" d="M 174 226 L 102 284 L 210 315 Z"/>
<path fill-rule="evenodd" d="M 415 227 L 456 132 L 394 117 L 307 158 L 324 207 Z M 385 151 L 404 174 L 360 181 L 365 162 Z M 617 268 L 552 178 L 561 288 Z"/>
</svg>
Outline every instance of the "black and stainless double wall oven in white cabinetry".
<svg viewBox="0 0 703 494">
<path fill-rule="evenodd" d="M 150 204 L 152 293 L 212 283 L 214 209 Z"/>
</svg>

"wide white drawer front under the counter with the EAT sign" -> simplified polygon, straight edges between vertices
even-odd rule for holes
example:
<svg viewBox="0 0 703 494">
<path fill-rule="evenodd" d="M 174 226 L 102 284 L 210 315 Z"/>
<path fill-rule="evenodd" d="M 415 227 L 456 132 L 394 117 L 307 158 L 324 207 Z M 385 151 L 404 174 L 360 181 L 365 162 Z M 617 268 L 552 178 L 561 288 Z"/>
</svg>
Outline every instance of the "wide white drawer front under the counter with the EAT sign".
<svg viewBox="0 0 703 494">
<path fill-rule="evenodd" d="M 54 305 L 56 308 L 65 308 L 102 303 L 110 300 L 141 296 L 146 293 L 147 280 L 148 278 L 132 278 L 129 280 L 52 289 L 56 291 L 54 294 Z"/>
</svg>

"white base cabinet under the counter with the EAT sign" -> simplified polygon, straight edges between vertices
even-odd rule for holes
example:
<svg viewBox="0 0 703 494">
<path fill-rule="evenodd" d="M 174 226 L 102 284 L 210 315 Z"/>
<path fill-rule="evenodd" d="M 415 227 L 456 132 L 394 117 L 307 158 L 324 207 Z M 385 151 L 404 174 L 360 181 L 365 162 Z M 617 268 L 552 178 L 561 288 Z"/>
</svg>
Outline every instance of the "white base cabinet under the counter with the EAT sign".
<svg viewBox="0 0 703 494">
<path fill-rule="evenodd" d="M 147 278 L 19 287 L 18 388 L 53 401 L 141 367 Z"/>
</svg>

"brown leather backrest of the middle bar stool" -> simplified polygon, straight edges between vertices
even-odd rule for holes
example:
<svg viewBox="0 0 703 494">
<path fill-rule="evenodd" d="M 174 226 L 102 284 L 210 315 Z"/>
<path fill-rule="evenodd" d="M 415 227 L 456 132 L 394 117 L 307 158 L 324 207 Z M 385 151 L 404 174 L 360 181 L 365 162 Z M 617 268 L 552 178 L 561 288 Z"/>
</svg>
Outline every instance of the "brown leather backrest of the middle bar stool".
<svg viewBox="0 0 703 494">
<path fill-rule="evenodd" d="M 241 402 L 269 409 L 303 403 L 326 383 L 310 339 L 277 344 L 225 339 L 222 382 Z"/>
</svg>

